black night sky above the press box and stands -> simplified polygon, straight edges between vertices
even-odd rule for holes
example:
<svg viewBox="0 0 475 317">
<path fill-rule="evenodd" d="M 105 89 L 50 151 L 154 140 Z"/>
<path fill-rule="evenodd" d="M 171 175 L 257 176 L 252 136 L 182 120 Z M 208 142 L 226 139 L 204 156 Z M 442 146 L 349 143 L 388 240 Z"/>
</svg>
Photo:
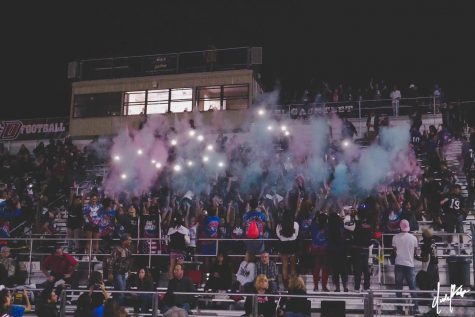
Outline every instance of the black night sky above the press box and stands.
<svg viewBox="0 0 475 317">
<path fill-rule="evenodd" d="M 198 50 L 209 41 L 262 46 L 266 90 L 276 79 L 299 91 L 311 78 L 358 85 L 375 77 L 438 82 L 453 98 L 475 97 L 473 1 L 46 2 L 2 10 L 2 119 L 68 115 L 69 61 Z"/>
</svg>

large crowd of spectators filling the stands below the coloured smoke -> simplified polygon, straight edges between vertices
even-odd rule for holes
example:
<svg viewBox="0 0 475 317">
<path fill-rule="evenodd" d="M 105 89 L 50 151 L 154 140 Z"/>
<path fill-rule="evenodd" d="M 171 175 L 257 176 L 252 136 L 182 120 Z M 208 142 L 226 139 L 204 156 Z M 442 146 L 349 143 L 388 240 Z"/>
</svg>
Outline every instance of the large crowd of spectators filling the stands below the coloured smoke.
<svg viewBox="0 0 475 317">
<path fill-rule="evenodd" d="M 377 83 L 372 83 L 372 87 L 384 88 Z M 336 94 L 343 93 L 335 90 Z M 444 148 L 450 139 L 462 138 L 456 133 L 459 131 L 454 126 L 456 123 L 445 121 L 439 128 L 430 126 L 421 131 L 420 117 L 412 119 L 408 147 L 422 160 L 423 173 L 395 175 L 392 182 L 379 186 L 369 195 L 351 199 L 340 199 L 333 194 L 333 175 L 321 184 L 311 184 L 307 175 L 297 175 L 288 190 L 265 186 L 266 176 L 261 175 L 247 191 L 242 191 L 239 175 L 230 171 L 217 174 L 201 192 L 174 188 L 170 181 L 173 175 L 165 170 L 156 186 L 146 193 L 107 196 L 100 184 L 84 193 L 76 184 L 98 160 L 87 148 L 78 149 L 69 138 L 51 140 L 46 146 L 40 143 L 32 152 L 22 146 L 16 154 L 8 153 L 2 146 L 0 238 L 21 235 L 25 224 L 31 225 L 34 233 L 56 237 L 57 206 L 66 204 L 68 244 L 41 245 L 54 247 L 48 250 L 51 255 L 41 261 L 46 279 L 41 287 L 48 291 L 41 296 L 42 305 L 38 307 L 40 311 L 49 311 L 55 306 L 54 294 L 58 291 L 55 293 L 53 287 L 57 281 L 64 280 L 73 289 L 78 287 L 86 277 L 78 270 L 78 260 L 103 261 L 105 281 L 99 272 L 89 276 L 89 291 L 78 300 L 77 316 L 106 316 L 104 311 L 108 309 L 119 314 L 127 301 L 133 303 L 135 312 L 148 312 L 151 293 L 132 296 L 114 293 L 113 299 L 109 299 L 104 285 L 110 283 L 117 291 L 151 292 L 156 289 L 160 272 L 168 272 L 170 278 L 159 305 L 164 313 L 172 307 L 189 312 L 195 304 L 194 297 L 174 295 L 174 292 L 193 292 L 204 287 L 205 291 L 213 292 L 257 292 L 262 295 L 258 301 L 259 313 L 268 316 L 273 299 L 265 294 L 281 291 L 305 294 L 299 276 L 306 273 L 313 275 L 314 291 L 330 291 L 330 274 L 332 291 L 348 292 L 349 274 L 354 276 L 354 291 L 368 290 L 371 249 L 380 243 L 394 246 L 397 287 L 402 287 L 404 278 L 411 288 L 415 287 L 411 279 L 414 258 L 431 267 L 429 277 L 433 286 L 438 273 L 437 257 L 434 259 L 430 253 L 432 234 L 424 233 L 422 253 L 419 255 L 417 251 L 415 257 L 407 249 L 417 247 L 417 240 L 414 242 L 406 236 L 410 235 L 409 231 L 418 230 L 418 220 L 432 220 L 435 230 L 462 233 L 462 221 L 469 211 L 469 200 L 473 203 L 475 184 L 469 182 L 470 197 L 464 199 L 445 161 Z M 343 129 L 352 130 L 347 124 Z M 378 142 L 377 135 L 370 118 L 368 137 Z M 231 140 L 220 135 L 216 148 L 224 151 Z M 463 142 L 463 169 L 471 175 L 475 133 Z M 280 150 L 285 151 L 285 147 Z M 236 154 L 238 159 L 245 157 L 244 147 L 236 147 L 236 151 L 242 152 Z M 386 233 L 386 241 L 378 236 L 381 232 Z M 459 237 L 459 241 L 450 237 L 453 247 L 449 245 L 448 249 L 463 243 Z M 25 284 L 26 270 L 10 253 L 10 248 L 22 246 L 12 245 L 8 239 L 0 243 L 2 284 L 7 287 Z M 403 255 L 401 250 L 407 252 Z M 408 252 L 412 254 L 409 259 Z M 169 257 L 157 256 L 160 254 Z M 278 259 L 272 257 L 276 254 Z M 243 259 L 229 255 L 243 255 Z M 203 262 L 208 279 L 192 281 L 184 273 L 184 263 L 196 262 Z M 280 268 L 276 262 L 281 263 Z M 2 301 L 2 311 L 11 311 L 7 307 L 11 302 L 9 292 L 2 291 Z M 250 305 L 246 300 L 246 313 Z M 29 304 L 25 307 L 28 310 Z M 308 305 L 289 299 L 283 307 L 288 312 L 306 314 Z"/>
</svg>

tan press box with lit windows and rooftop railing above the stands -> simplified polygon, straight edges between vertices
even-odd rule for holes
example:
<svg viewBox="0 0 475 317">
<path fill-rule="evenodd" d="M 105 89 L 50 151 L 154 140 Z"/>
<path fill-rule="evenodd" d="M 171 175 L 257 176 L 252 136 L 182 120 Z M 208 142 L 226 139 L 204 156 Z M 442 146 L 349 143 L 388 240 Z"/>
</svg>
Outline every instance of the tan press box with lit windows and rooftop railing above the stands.
<svg viewBox="0 0 475 317">
<path fill-rule="evenodd" d="M 146 117 L 173 122 L 194 111 L 202 124 L 211 124 L 219 111 L 225 130 L 242 129 L 262 93 L 261 62 L 256 47 L 72 62 L 69 134 L 112 136 Z"/>
</svg>

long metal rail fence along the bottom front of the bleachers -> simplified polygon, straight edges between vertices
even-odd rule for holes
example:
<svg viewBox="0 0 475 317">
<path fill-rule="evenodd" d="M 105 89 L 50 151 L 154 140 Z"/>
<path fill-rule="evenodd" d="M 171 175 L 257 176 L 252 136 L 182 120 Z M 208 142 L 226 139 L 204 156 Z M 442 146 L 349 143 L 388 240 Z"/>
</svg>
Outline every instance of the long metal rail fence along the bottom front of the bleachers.
<svg viewBox="0 0 475 317">
<path fill-rule="evenodd" d="M 11 291 L 15 291 L 16 289 L 10 289 Z M 43 289 L 32 289 L 29 290 L 30 293 L 39 293 Z M 58 294 L 58 301 L 59 301 L 59 316 L 71 316 L 76 309 L 76 305 L 68 304 L 68 298 L 74 296 L 74 293 L 79 294 L 84 291 L 84 289 L 63 289 L 61 294 Z M 123 295 L 151 295 L 151 305 L 150 309 L 147 313 L 140 313 L 136 314 L 141 316 L 152 316 L 157 317 L 161 316 L 162 313 L 160 312 L 160 294 L 164 294 L 165 289 L 156 290 L 156 291 L 136 291 L 136 290 L 124 290 L 124 291 L 115 291 L 115 290 L 106 290 L 108 294 L 123 294 Z M 266 297 L 272 298 L 273 301 L 276 303 L 275 310 L 277 315 L 277 309 L 279 309 L 279 302 L 282 298 L 287 299 L 296 299 L 296 298 L 303 298 L 309 300 L 311 303 L 316 303 L 311 307 L 312 311 L 319 310 L 318 303 L 324 302 L 325 300 L 328 301 L 345 301 L 352 306 L 352 311 L 358 314 L 361 314 L 365 317 L 373 317 L 375 315 L 384 315 L 385 313 L 390 313 L 392 310 L 396 310 L 397 308 L 404 309 L 404 308 L 413 308 L 414 301 L 417 301 L 420 307 L 428 307 L 429 309 L 438 309 L 443 313 L 451 313 L 451 310 L 456 307 L 456 309 L 464 309 L 466 313 L 471 314 L 471 309 L 475 307 L 475 298 L 472 295 L 469 295 L 467 289 L 461 290 L 462 292 L 457 293 L 457 295 L 453 296 L 450 301 L 443 300 L 445 294 L 451 294 L 451 290 L 449 288 L 439 288 L 437 291 L 423 291 L 423 290 L 396 290 L 396 289 L 388 289 L 388 290 L 369 290 L 361 293 L 326 293 L 326 292 L 316 292 L 314 294 L 307 294 L 307 295 L 293 295 L 287 294 L 285 292 L 280 294 L 265 294 Z M 102 292 L 100 290 L 93 290 L 92 292 Z M 398 297 L 396 294 L 400 292 L 403 295 L 411 295 L 411 297 Z M 223 293 L 212 293 L 212 292 L 174 292 L 175 295 L 190 295 L 193 296 L 195 301 L 206 301 L 210 297 L 214 296 L 223 296 Z M 413 295 L 414 294 L 414 295 Z M 36 294 L 35 296 L 38 296 Z M 258 297 L 262 296 L 255 293 L 226 293 L 226 296 L 246 296 L 252 297 L 250 301 L 252 303 L 252 313 L 250 316 L 257 317 L 258 316 Z M 413 295 L 413 296 L 412 296 Z M 35 297 L 34 296 L 34 297 Z M 32 298 L 33 299 L 33 298 Z M 224 301 L 223 301 L 224 302 Z M 438 303 L 438 305 L 435 305 Z M 33 304 L 33 303 L 32 303 Z M 387 309 L 388 306 L 391 309 Z M 36 309 L 36 307 L 35 307 Z M 320 308 L 321 310 L 321 308 Z M 348 310 L 347 310 L 348 311 Z M 196 311 L 194 314 L 200 315 L 201 308 L 197 305 Z M 464 313 L 462 315 L 459 313 L 458 316 L 465 316 Z"/>
</svg>

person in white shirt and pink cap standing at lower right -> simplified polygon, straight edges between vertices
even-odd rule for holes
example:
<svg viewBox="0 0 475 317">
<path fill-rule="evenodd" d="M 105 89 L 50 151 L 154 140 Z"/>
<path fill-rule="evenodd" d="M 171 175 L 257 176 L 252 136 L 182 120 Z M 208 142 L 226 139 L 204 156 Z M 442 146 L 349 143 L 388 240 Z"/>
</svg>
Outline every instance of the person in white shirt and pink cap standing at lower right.
<svg viewBox="0 0 475 317">
<path fill-rule="evenodd" d="M 419 245 L 417 238 L 409 233 L 410 225 L 406 219 L 401 220 L 401 233 L 393 237 L 393 249 L 396 254 L 394 268 L 396 289 L 402 289 L 403 281 L 406 280 L 409 289 L 416 289 L 416 277 L 414 271 L 414 255 Z M 396 293 L 397 297 L 402 297 L 401 292 Z M 417 297 L 416 293 L 411 293 L 412 297 Z M 398 311 L 402 310 L 398 307 Z M 413 314 L 419 313 L 417 301 L 414 301 Z"/>
</svg>

